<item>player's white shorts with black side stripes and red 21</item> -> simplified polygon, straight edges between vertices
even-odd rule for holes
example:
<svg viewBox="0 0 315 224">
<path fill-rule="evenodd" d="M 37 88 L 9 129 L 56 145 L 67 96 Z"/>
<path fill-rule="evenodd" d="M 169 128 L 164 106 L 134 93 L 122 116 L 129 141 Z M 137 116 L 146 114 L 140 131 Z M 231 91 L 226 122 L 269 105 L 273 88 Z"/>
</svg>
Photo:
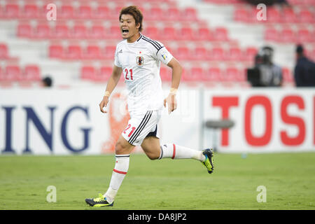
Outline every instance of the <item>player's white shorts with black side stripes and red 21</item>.
<svg viewBox="0 0 315 224">
<path fill-rule="evenodd" d="M 146 137 L 158 135 L 158 123 L 161 111 L 146 111 L 131 115 L 127 127 L 123 131 L 123 137 L 133 146 L 139 146 Z"/>
</svg>

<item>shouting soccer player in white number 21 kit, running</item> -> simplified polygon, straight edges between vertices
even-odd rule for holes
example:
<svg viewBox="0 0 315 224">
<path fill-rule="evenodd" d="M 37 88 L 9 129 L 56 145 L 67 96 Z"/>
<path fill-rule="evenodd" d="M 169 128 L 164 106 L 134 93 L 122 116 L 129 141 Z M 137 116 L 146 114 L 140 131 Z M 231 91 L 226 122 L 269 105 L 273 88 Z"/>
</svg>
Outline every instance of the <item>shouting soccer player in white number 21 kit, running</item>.
<svg viewBox="0 0 315 224">
<path fill-rule="evenodd" d="M 198 151 L 176 144 L 160 144 L 158 122 L 163 106 L 167 105 L 169 113 L 176 109 L 176 91 L 182 68 L 162 43 L 141 34 L 142 19 L 143 15 L 137 6 L 129 6 L 120 11 L 120 31 L 125 40 L 116 47 L 113 73 L 99 108 L 102 113 L 107 113 L 104 107 L 109 103 L 111 92 L 123 73 L 128 90 L 130 120 L 116 142 L 116 163 L 108 190 L 104 195 L 99 194 L 99 197 L 85 199 L 92 207 L 113 206 L 118 189 L 127 174 L 134 146 L 140 145 L 151 160 L 195 159 L 202 162 L 209 174 L 214 171 L 211 149 Z M 172 69 L 172 87 L 165 99 L 160 78 L 161 62 Z"/>
</svg>

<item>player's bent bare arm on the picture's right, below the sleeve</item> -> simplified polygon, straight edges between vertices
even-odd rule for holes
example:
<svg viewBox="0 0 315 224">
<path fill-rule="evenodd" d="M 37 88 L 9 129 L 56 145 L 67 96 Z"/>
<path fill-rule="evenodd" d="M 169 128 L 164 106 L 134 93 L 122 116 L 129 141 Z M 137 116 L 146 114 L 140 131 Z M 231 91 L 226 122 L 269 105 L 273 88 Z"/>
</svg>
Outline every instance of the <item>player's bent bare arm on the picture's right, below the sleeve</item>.
<svg viewBox="0 0 315 224">
<path fill-rule="evenodd" d="M 169 95 L 164 99 L 164 106 L 167 104 L 168 111 L 171 113 L 177 108 L 176 92 L 179 88 L 179 83 L 181 82 L 183 68 L 175 57 L 169 61 L 167 66 L 172 69 L 172 86 Z"/>
</svg>

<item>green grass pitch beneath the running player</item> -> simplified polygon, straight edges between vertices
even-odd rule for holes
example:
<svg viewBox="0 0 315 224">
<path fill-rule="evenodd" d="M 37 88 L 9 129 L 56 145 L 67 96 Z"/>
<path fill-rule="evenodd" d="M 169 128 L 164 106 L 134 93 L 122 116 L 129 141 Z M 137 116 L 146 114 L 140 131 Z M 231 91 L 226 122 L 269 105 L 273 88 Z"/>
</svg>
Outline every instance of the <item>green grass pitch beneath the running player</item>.
<svg viewBox="0 0 315 224">
<path fill-rule="evenodd" d="M 214 174 L 196 160 L 132 154 L 114 207 L 89 207 L 114 164 L 114 155 L 0 156 L 0 209 L 315 209 L 315 153 L 216 153 Z M 46 201 L 48 186 L 57 202 Z M 257 202 L 258 186 L 266 202 Z"/>
</svg>

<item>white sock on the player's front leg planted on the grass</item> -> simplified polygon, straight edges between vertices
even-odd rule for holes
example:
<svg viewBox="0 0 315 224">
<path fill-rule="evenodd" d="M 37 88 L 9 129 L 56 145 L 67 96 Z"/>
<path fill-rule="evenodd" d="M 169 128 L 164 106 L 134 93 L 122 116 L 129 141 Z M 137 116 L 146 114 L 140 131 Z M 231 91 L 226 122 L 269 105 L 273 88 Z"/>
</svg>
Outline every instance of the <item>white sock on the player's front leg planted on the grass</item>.
<svg viewBox="0 0 315 224">
<path fill-rule="evenodd" d="M 118 189 L 127 174 L 129 168 L 130 155 L 116 155 L 115 168 L 111 175 L 111 183 L 109 183 L 109 189 L 104 194 L 107 202 L 111 203 L 115 200 Z"/>
</svg>

